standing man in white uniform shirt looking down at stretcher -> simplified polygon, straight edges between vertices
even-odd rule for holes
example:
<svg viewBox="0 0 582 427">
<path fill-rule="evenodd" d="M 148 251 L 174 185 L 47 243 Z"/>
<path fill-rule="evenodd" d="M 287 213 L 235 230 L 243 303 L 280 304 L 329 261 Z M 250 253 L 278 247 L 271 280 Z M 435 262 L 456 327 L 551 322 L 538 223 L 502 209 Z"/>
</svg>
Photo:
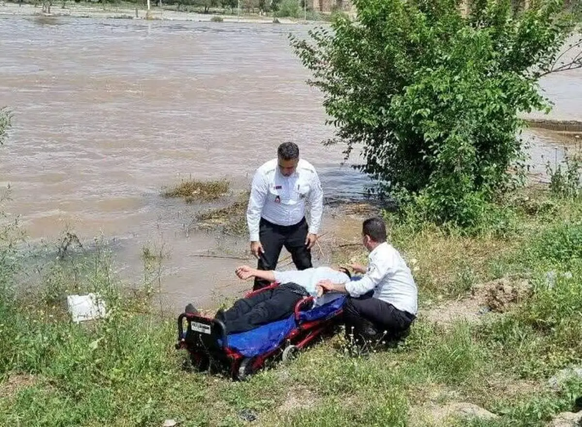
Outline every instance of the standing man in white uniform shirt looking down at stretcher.
<svg viewBox="0 0 582 427">
<path fill-rule="evenodd" d="M 306 201 L 311 218 L 305 218 Z M 283 142 L 277 158 L 259 167 L 251 186 L 247 225 L 251 252 L 258 259 L 258 270 L 275 270 L 281 249 L 291 253 L 297 270 L 311 264 L 313 247 L 321 224 L 323 192 L 315 168 L 299 159 L 299 147 Z M 253 289 L 268 285 L 255 277 Z"/>
</svg>

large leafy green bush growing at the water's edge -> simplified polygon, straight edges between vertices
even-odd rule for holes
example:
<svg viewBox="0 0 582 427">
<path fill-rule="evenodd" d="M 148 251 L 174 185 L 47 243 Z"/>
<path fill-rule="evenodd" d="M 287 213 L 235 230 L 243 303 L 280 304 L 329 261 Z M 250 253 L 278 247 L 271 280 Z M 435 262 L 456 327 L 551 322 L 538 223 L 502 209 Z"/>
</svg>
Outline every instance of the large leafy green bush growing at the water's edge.
<svg viewBox="0 0 582 427">
<path fill-rule="evenodd" d="M 355 0 L 357 17 L 291 36 L 361 170 L 421 219 L 473 227 L 523 155 L 520 112 L 549 109 L 538 78 L 572 30 L 560 1 Z M 580 59 L 569 64 L 580 66 Z M 409 209 L 410 211 L 410 209 Z"/>
</svg>

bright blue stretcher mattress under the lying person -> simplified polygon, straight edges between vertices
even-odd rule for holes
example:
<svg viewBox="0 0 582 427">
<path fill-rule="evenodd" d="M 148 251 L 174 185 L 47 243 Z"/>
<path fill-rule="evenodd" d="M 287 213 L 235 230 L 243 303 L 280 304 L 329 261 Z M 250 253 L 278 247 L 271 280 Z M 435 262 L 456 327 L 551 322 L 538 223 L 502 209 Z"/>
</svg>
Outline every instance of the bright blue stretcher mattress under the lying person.
<svg viewBox="0 0 582 427">
<path fill-rule="evenodd" d="M 324 320 L 338 311 L 345 299 L 345 295 L 340 295 L 327 304 L 301 311 L 300 320 Z M 236 349 L 245 357 L 253 357 L 275 349 L 295 327 L 295 315 L 292 314 L 286 319 L 259 326 L 251 331 L 231 333 L 226 340 L 230 348 Z"/>
</svg>

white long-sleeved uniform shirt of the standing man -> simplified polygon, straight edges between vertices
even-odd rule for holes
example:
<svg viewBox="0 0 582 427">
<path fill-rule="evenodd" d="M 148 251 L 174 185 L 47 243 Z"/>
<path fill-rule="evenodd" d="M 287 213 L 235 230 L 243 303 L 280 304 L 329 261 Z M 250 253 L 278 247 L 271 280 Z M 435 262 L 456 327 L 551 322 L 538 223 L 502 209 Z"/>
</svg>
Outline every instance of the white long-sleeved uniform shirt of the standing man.
<svg viewBox="0 0 582 427">
<path fill-rule="evenodd" d="M 294 225 L 305 216 L 305 202 L 310 201 L 309 232 L 317 234 L 323 213 L 323 192 L 315 168 L 307 160 L 299 159 L 297 168 L 289 177 L 279 170 L 278 160 L 269 160 L 259 167 L 253 177 L 247 225 L 251 242 L 258 242 L 261 217 L 277 225 Z"/>
</svg>

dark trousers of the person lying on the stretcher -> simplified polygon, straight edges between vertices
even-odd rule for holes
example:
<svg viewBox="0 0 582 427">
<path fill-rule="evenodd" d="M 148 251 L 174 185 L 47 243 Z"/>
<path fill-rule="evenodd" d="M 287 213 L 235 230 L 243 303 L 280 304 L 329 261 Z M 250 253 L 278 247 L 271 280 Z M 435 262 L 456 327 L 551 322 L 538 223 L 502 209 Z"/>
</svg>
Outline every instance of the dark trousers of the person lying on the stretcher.
<svg viewBox="0 0 582 427">
<path fill-rule="evenodd" d="M 304 296 L 306 290 L 294 283 L 263 290 L 249 298 L 237 300 L 216 317 L 226 326 L 226 333 L 250 331 L 260 325 L 281 320 L 293 313 L 295 304 Z"/>
</svg>

